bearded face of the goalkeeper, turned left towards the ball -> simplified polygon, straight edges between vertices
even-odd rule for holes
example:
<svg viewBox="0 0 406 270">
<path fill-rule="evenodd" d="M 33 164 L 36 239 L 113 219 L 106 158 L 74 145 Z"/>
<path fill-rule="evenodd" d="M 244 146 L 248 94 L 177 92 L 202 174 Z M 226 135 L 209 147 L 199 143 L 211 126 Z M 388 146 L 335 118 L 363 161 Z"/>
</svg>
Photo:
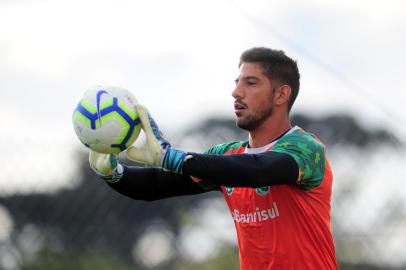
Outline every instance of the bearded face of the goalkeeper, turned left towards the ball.
<svg viewBox="0 0 406 270">
<path fill-rule="evenodd" d="M 243 63 L 232 92 L 239 128 L 252 131 L 272 115 L 271 82 L 257 63 Z"/>
</svg>

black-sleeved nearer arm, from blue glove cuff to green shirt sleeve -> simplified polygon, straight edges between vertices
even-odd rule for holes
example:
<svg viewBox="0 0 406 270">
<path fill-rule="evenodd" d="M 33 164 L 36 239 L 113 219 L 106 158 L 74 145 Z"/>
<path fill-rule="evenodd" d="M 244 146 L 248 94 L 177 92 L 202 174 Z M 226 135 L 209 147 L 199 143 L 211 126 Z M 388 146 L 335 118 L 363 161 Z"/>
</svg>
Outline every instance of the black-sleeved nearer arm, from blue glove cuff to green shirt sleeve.
<svg viewBox="0 0 406 270">
<path fill-rule="evenodd" d="M 258 188 L 277 184 L 293 184 L 299 169 L 288 154 L 205 155 L 192 153 L 182 172 L 229 187 Z"/>
</svg>

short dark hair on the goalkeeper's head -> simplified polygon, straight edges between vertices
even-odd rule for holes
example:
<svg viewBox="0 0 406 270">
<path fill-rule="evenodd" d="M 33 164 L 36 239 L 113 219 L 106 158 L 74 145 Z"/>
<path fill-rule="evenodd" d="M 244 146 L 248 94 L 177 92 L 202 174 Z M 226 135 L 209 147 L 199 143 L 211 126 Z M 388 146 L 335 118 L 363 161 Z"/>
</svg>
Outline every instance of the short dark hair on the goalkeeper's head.
<svg viewBox="0 0 406 270">
<path fill-rule="evenodd" d="M 248 49 L 241 54 L 238 67 L 244 62 L 260 64 L 264 74 L 270 81 L 290 86 L 292 89 L 292 94 L 288 103 L 288 111 L 290 111 L 299 93 L 300 87 L 300 74 L 296 61 L 287 56 L 284 51 L 265 47 L 255 47 Z"/>
</svg>

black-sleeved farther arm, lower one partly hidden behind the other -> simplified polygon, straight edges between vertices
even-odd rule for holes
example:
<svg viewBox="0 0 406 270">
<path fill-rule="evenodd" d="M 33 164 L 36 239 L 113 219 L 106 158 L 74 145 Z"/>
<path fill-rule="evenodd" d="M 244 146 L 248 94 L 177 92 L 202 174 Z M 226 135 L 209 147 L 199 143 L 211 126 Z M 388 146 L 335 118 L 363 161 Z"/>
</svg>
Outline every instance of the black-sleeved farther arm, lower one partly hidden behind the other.
<svg viewBox="0 0 406 270">
<path fill-rule="evenodd" d="M 124 166 L 120 181 L 109 183 L 117 192 L 136 200 L 153 201 L 206 192 L 187 175 L 158 168 Z"/>
</svg>

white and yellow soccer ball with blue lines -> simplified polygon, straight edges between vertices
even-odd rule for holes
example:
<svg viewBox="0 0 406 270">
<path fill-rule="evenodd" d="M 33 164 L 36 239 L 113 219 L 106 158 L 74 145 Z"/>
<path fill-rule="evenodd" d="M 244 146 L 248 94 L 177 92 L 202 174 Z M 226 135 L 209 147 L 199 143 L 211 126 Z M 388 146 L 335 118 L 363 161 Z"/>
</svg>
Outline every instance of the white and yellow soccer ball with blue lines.
<svg viewBox="0 0 406 270">
<path fill-rule="evenodd" d="M 99 153 L 124 151 L 141 131 L 136 105 L 134 96 L 124 88 L 99 85 L 88 89 L 73 111 L 77 137 Z"/>
</svg>

